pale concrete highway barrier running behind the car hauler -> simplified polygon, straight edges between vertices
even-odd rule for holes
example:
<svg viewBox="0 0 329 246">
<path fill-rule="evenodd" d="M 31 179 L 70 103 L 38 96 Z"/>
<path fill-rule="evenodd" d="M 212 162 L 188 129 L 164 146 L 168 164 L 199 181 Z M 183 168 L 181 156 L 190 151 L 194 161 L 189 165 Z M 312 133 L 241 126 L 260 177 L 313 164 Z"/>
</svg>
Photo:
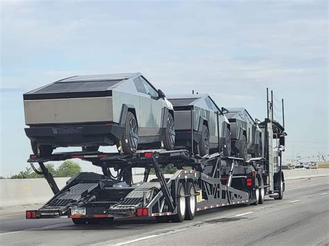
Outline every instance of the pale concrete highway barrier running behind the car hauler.
<svg viewBox="0 0 329 246">
<path fill-rule="evenodd" d="M 300 179 L 303 177 L 329 176 L 329 169 L 283 170 L 285 179 Z M 171 177 L 171 175 L 165 175 Z M 150 175 L 149 179 L 154 179 Z M 55 178 L 59 188 L 65 186 L 68 177 Z M 134 175 L 135 183 L 141 182 L 143 175 Z M 27 204 L 44 204 L 53 193 L 45 179 L 0 179 L 0 207 L 16 207 Z"/>
</svg>

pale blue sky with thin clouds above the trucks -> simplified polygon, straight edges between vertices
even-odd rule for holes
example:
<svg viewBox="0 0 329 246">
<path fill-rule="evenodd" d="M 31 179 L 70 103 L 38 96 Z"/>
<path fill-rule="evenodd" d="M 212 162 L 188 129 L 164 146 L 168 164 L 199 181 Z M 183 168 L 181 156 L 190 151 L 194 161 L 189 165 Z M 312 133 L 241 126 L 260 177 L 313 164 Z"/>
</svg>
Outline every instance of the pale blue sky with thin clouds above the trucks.
<svg viewBox="0 0 329 246">
<path fill-rule="evenodd" d="M 328 1 L 0 4 L 1 176 L 28 166 L 22 94 L 98 73 L 139 71 L 165 94 L 194 89 L 259 119 L 269 87 L 285 99 L 283 161 L 329 154 Z"/>
</svg>

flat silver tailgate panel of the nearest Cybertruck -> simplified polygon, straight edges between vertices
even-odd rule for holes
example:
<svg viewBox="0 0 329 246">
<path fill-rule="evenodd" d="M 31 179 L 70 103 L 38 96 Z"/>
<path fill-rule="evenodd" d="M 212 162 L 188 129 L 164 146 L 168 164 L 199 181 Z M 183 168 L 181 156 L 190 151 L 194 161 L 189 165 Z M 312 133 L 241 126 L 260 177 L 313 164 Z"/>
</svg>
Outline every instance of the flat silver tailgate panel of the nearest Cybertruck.
<svg viewBox="0 0 329 246">
<path fill-rule="evenodd" d="M 26 125 L 112 121 L 112 97 L 24 100 Z"/>
</svg>

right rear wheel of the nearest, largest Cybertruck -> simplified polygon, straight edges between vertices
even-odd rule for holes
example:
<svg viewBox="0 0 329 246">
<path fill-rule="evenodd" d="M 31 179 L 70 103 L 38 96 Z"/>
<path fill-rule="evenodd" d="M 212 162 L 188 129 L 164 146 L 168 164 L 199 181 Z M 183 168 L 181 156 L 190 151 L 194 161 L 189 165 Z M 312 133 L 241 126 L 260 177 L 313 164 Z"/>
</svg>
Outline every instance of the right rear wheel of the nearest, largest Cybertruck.
<svg viewBox="0 0 329 246">
<path fill-rule="evenodd" d="M 136 152 L 138 146 L 138 126 L 136 118 L 132 112 L 127 113 L 126 125 L 121 143 L 122 150 L 124 150 L 125 154 L 133 155 L 133 153 Z"/>
</svg>

